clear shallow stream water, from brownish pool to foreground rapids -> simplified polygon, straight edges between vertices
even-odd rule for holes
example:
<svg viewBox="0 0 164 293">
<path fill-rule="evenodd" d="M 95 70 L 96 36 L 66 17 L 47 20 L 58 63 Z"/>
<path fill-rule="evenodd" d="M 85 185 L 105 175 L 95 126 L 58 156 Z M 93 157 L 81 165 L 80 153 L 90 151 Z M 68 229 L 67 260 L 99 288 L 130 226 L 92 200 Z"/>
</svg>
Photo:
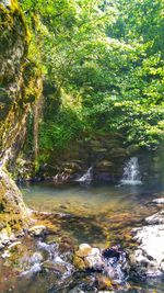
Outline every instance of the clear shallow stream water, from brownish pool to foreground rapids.
<svg viewBox="0 0 164 293">
<path fill-rule="evenodd" d="M 162 196 L 164 185 L 142 183 L 83 187 L 80 182 L 65 185 L 49 182 L 25 184 L 22 191 L 30 209 L 49 212 L 42 213 L 40 222 L 50 225 L 54 233 L 45 239 L 22 238 L 19 256 L 15 259 L 0 260 L 1 293 L 97 292 L 90 286 L 93 277 L 74 272 L 69 253 L 61 252 L 58 240 L 71 239 L 73 245 L 87 243 L 101 248 L 116 244 L 120 244 L 122 248 L 133 246 L 131 228 L 140 226 L 145 216 L 157 211 L 157 207 L 149 203 L 152 199 Z M 77 285 L 82 289 L 83 283 L 85 289 L 80 291 Z M 126 292 L 164 292 L 162 280 L 143 284 L 136 281 L 132 284 L 136 289 Z M 73 291 L 74 286 L 77 289 Z"/>
</svg>

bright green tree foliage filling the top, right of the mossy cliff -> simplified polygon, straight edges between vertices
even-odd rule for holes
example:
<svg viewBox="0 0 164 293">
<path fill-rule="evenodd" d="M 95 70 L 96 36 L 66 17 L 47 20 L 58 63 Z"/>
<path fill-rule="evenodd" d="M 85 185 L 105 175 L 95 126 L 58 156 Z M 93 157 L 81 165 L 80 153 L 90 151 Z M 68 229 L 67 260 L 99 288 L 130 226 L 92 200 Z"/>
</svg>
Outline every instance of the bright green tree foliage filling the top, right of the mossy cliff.
<svg viewBox="0 0 164 293">
<path fill-rule="evenodd" d="M 55 88 L 45 97 L 43 153 L 92 132 L 121 132 L 126 144 L 149 148 L 164 140 L 161 0 L 21 4 L 32 31 L 30 58 Z"/>
</svg>

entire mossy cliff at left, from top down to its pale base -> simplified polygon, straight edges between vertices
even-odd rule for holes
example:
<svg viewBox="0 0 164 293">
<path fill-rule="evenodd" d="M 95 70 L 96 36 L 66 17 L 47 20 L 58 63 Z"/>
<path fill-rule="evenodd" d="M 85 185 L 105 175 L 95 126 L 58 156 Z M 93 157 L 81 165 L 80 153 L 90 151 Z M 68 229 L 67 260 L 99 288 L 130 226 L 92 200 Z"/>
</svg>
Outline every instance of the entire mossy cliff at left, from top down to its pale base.
<svg viewBox="0 0 164 293">
<path fill-rule="evenodd" d="M 19 155 L 28 113 L 42 93 L 40 72 L 27 59 L 28 43 L 30 33 L 17 2 L 0 1 L 0 235 L 27 223 L 22 194 L 4 172 L 4 165 Z"/>
</svg>

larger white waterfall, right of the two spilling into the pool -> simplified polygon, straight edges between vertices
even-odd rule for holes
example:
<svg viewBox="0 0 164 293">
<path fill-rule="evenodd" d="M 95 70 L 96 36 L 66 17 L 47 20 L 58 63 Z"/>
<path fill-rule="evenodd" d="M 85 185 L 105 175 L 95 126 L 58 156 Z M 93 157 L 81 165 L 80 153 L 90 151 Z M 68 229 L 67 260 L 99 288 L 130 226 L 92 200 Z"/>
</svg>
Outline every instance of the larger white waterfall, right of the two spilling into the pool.
<svg viewBox="0 0 164 293">
<path fill-rule="evenodd" d="M 132 185 L 142 184 L 137 157 L 130 158 L 129 161 L 126 164 L 124 168 L 122 179 L 120 182 L 121 184 L 132 184 Z"/>
</svg>

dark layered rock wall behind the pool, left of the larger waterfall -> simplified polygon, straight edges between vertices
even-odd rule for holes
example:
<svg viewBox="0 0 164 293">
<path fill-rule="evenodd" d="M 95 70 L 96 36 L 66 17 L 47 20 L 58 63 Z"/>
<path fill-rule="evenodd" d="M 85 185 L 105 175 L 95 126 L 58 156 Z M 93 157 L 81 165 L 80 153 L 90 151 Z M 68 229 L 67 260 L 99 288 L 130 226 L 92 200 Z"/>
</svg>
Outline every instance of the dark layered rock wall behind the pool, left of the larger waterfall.
<svg viewBox="0 0 164 293">
<path fill-rule="evenodd" d="M 122 137 L 115 134 L 72 142 L 65 151 L 52 153 L 47 164 L 40 168 L 39 174 L 43 178 L 69 181 L 78 179 L 92 167 L 94 180 L 117 181 L 122 176 L 124 164 L 129 156 L 122 140 Z"/>
</svg>

